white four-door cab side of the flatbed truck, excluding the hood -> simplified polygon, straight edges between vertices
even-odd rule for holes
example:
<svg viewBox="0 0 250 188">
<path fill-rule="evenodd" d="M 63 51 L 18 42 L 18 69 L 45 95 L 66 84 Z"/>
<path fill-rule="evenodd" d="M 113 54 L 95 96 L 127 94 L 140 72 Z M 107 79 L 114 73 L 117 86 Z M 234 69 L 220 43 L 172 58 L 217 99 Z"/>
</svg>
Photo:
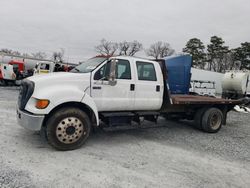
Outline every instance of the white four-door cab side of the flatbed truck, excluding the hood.
<svg viewBox="0 0 250 188">
<path fill-rule="evenodd" d="M 91 74 L 88 94 L 99 112 L 159 110 L 163 100 L 163 78 L 159 73 L 161 69 L 153 61 L 111 58 Z"/>
</svg>

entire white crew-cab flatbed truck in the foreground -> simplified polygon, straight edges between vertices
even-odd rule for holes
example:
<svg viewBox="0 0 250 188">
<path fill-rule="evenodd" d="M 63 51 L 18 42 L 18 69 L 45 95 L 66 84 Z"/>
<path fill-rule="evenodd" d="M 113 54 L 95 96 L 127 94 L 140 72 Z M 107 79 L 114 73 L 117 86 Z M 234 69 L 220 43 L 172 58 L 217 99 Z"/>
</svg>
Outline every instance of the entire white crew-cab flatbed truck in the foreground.
<svg viewBox="0 0 250 188">
<path fill-rule="evenodd" d="M 167 78 L 164 61 L 92 58 L 71 73 L 23 81 L 17 119 L 30 130 L 45 130 L 56 149 L 71 150 L 84 144 L 93 127 L 156 122 L 160 115 L 194 120 L 197 128 L 215 133 L 226 124 L 227 112 L 243 103 L 171 94 Z"/>
</svg>

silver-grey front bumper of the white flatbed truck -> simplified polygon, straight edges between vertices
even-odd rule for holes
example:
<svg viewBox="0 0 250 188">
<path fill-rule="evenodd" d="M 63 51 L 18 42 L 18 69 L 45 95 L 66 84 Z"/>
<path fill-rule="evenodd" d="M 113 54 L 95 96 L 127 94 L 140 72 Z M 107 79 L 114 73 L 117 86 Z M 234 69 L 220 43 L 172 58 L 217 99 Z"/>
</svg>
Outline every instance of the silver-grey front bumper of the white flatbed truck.
<svg viewBox="0 0 250 188">
<path fill-rule="evenodd" d="M 19 109 L 17 110 L 18 124 L 32 131 L 41 130 L 44 118 L 44 115 L 34 115 Z"/>
</svg>

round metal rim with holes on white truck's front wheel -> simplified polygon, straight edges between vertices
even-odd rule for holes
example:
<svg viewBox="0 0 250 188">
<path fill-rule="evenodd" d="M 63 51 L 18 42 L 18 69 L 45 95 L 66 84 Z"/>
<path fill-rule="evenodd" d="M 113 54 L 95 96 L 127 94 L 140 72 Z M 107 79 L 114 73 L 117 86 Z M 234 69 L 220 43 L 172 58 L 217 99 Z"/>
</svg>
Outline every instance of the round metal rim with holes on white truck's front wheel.
<svg viewBox="0 0 250 188">
<path fill-rule="evenodd" d="M 86 133 L 82 121 L 77 117 L 64 118 L 56 127 L 56 137 L 64 144 L 75 143 Z"/>
</svg>

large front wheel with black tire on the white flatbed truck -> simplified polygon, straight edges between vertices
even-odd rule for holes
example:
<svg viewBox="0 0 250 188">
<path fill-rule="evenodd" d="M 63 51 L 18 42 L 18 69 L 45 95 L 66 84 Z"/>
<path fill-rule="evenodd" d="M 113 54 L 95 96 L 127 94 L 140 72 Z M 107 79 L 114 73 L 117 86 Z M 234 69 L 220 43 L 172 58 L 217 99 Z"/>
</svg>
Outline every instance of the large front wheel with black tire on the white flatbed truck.
<svg viewBox="0 0 250 188">
<path fill-rule="evenodd" d="M 91 131 L 88 115 L 78 108 L 61 108 L 47 121 L 48 143 L 57 150 L 67 151 L 81 147 Z"/>
</svg>

